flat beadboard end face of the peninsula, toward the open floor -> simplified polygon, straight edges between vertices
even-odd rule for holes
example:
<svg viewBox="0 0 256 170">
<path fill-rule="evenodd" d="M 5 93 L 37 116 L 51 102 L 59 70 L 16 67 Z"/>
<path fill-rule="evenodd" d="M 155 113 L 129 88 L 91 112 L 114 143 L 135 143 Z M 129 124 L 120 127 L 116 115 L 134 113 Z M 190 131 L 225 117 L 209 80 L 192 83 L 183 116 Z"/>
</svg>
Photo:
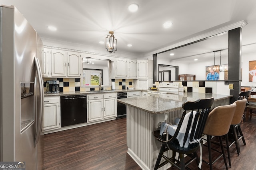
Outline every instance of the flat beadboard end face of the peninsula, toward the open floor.
<svg viewBox="0 0 256 170">
<path fill-rule="evenodd" d="M 154 115 L 132 106 L 127 106 L 126 109 L 128 154 L 142 169 L 149 169 Z"/>
</svg>

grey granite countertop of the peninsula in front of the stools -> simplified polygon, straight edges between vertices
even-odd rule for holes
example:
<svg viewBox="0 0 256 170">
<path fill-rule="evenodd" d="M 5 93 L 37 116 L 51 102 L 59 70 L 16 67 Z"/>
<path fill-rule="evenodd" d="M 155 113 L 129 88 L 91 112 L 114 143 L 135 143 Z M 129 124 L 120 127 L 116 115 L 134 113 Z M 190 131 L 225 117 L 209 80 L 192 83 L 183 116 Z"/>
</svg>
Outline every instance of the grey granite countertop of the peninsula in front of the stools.
<svg viewBox="0 0 256 170">
<path fill-rule="evenodd" d="M 232 97 L 232 95 L 195 93 L 195 92 L 179 92 L 178 94 L 162 94 L 147 97 L 124 98 L 118 99 L 118 102 L 128 106 L 136 107 L 148 113 L 162 114 L 173 111 L 182 106 L 186 100 L 196 101 L 198 99 L 206 99 L 214 97 L 214 100 L 222 100 Z"/>
</svg>

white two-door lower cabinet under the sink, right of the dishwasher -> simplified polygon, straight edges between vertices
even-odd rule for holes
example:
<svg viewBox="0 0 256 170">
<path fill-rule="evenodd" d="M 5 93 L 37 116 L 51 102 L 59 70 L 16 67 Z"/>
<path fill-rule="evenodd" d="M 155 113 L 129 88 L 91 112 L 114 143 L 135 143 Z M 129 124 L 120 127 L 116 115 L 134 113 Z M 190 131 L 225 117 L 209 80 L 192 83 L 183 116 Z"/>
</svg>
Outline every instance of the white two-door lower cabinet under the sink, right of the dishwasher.
<svg viewBox="0 0 256 170">
<path fill-rule="evenodd" d="M 87 122 L 116 117 L 116 93 L 87 95 Z"/>
</svg>

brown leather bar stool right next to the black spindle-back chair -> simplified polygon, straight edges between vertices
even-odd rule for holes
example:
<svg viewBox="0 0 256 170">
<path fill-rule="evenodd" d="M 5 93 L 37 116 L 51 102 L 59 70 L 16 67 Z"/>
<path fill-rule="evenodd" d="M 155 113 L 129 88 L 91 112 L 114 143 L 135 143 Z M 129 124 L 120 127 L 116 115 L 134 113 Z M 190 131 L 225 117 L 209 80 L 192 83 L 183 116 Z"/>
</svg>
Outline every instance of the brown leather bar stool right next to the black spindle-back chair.
<svg viewBox="0 0 256 170">
<path fill-rule="evenodd" d="M 228 143 L 228 131 L 236 110 L 236 104 L 230 104 L 226 106 L 218 106 L 215 107 L 208 115 L 208 119 L 206 121 L 206 125 L 204 127 L 204 134 L 207 136 L 207 147 L 209 154 L 209 162 L 205 162 L 210 165 L 210 170 L 212 170 L 212 164 L 214 164 L 221 156 L 224 158 L 226 170 L 228 170 L 226 156 L 224 152 L 224 147 L 222 143 L 222 136 L 226 136 L 226 142 Z M 212 160 L 212 147 L 211 147 L 211 138 L 212 136 L 218 137 L 220 142 L 220 147 L 222 152 L 220 156 L 215 160 Z M 227 147 L 229 152 L 229 147 Z M 217 151 L 217 150 L 216 150 Z"/>
</svg>

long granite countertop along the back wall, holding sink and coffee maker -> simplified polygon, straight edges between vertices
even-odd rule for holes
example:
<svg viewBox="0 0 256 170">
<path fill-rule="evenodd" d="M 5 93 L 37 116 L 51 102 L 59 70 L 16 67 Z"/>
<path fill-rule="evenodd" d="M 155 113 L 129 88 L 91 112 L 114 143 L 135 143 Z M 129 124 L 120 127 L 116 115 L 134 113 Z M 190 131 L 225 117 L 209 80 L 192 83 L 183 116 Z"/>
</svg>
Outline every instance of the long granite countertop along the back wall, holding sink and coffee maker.
<svg viewBox="0 0 256 170">
<path fill-rule="evenodd" d="M 147 91 L 140 89 L 123 89 L 123 90 L 101 90 L 101 91 L 78 91 L 78 92 L 59 92 L 59 93 L 44 93 L 44 96 L 73 96 L 73 95 L 85 95 L 85 94 L 104 94 L 111 92 L 135 92 L 135 91 Z"/>
</svg>

